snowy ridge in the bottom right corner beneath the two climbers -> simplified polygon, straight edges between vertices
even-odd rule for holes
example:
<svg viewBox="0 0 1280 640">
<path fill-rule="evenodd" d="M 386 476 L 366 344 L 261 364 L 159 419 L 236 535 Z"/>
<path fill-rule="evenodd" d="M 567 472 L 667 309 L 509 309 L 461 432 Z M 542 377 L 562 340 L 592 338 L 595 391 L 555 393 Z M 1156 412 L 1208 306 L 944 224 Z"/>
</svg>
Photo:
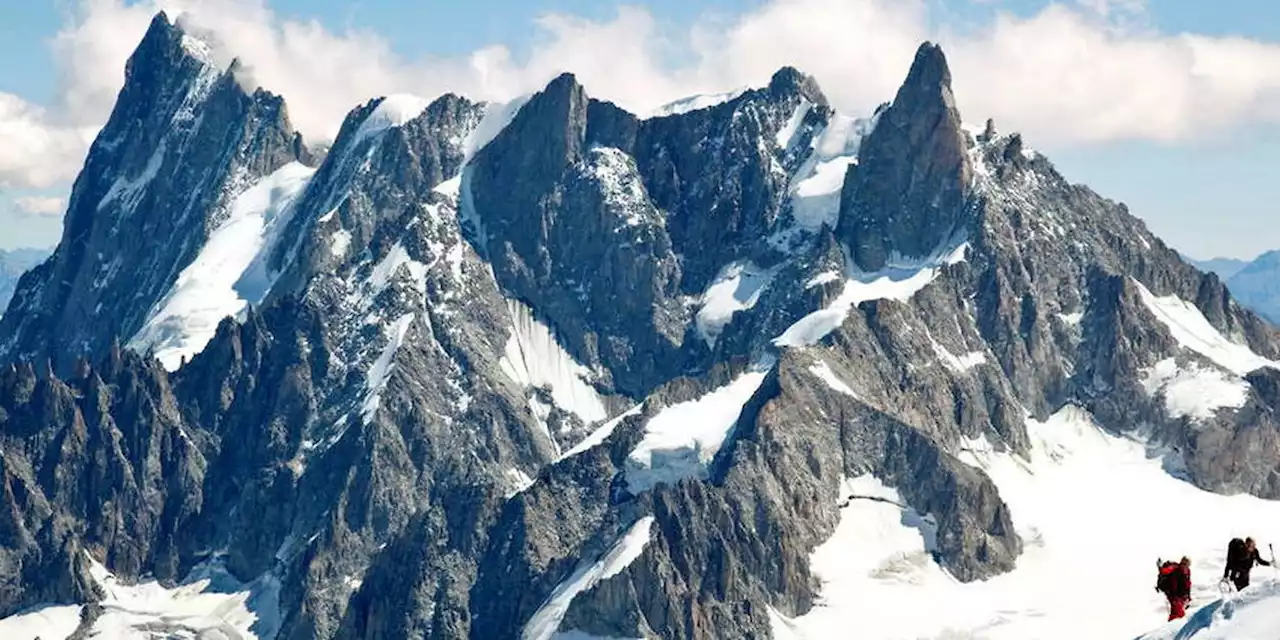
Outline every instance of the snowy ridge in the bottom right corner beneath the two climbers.
<svg viewBox="0 0 1280 640">
<path fill-rule="evenodd" d="M 1138 640 L 1276 640 L 1280 637 L 1280 580 L 1254 582 Z"/>
</svg>

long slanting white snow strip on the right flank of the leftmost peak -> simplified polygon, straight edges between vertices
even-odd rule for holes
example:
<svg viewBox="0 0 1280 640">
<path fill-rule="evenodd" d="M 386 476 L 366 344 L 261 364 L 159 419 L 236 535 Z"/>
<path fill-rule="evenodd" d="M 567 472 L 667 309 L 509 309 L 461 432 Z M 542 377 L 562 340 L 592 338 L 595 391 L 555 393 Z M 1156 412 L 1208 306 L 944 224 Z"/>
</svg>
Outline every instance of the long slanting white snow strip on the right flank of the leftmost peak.
<svg viewBox="0 0 1280 640">
<path fill-rule="evenodd" d="M 178 275 L 129 347 L 146 352 L 169 371 L 204 351 L 218 323 L 261 302 L 271 279 L 250 269 L 270 250 L 278 220 L 284 219 L 315 169 L 289 163 L 262 178 L 232 202 L 230 211 L 205 247 Z"/>
</svg>

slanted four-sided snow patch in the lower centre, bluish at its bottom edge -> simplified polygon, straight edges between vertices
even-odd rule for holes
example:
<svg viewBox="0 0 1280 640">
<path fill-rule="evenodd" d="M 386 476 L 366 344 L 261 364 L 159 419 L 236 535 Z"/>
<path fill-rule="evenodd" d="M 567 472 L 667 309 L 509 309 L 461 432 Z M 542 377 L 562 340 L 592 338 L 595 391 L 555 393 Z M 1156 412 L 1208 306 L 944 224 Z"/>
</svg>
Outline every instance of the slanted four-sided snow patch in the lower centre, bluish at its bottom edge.
<svg viewBox="0 0 1280 640">
<path fill-rule="evenodd" d="M 672 404 L 649 419 L 644 439 L 625 463 L 627 488 L 641 493 L 659 483 L 707 477 L 707 465 L 724 444 L 767 372 L 754 367 L 724 387 Z"/>
</svg>

